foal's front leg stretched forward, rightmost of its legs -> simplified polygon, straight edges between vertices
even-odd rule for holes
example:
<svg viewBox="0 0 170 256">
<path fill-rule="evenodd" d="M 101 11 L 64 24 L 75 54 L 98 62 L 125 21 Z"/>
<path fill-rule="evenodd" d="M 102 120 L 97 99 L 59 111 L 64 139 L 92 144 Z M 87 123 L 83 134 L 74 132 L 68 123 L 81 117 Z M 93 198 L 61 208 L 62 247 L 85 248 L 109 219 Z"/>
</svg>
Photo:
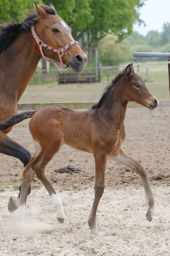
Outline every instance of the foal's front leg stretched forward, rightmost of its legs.
<svg viewBox="0 0 170 256">
<path fill-rule="evenodd" d="M 134 160 L 128 154 L 126 154 L 122 149 L 119 150 L 119 153 L 114 156 L 112 155 L 110 159 L 113 159 L 114 161 L 127 166 L 131 169 L 133 169 L 137 174 L 140 175 L 142 179 L 142 183 L 144 186 L 144 191 L 146 194 L 146 202 L 147 202 L 147 213 L 146 218 L 148 221 L 152 221 L 153 218 L 153 208 L 154 208 L 154 198 L 152 195 L 152 191 L 150 189 L 148 180 L 147 180 L 147 174 L 146 171 L 142 165 L 142 163 L 139 163 L 138 161 Z"/>
</svg>

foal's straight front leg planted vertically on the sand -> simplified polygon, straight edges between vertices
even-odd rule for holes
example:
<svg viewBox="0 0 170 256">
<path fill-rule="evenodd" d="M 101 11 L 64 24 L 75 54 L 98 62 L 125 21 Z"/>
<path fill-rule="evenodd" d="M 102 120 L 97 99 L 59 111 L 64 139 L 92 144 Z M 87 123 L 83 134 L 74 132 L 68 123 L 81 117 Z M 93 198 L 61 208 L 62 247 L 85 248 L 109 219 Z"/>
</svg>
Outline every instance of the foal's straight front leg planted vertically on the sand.
<svg viewBox="0 0 170 256">
<path fill-rule="evenodd" d="M 88 224 L 91 228 L 92 234 L 97 234 L 96 228 L 96 212 L 97 207 L 100 201 L 100 198 L 103 195 L 105 189 L 105 169 L 107 163 L 107 154 L 100 153 L 94 155 L 95 159 L 95 185 L 94 185 L 94 202 L 91 209 L 90 216 L 88 218 Z"/>
</svg>

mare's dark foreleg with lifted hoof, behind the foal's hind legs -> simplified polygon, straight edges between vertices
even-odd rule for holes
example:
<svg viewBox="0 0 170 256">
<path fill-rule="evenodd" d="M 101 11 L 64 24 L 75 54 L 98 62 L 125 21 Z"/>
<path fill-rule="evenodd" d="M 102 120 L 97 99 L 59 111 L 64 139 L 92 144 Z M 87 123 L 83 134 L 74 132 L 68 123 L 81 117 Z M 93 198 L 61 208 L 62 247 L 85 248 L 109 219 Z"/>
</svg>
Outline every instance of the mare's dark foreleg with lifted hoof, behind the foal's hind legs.
<svg viewBox="0 0 170 256">
<path fill-rule="evenodd" d="M 0 153 L 18 158 L 23 163 L 24 167 L 27 166 L 27 164 L 31 160 L 30 152 L 26 148 L 22 147 L 20 144 L 16 143 L 11 138 L 9 138 L 2 131 L 0 131 Z M 28 195 L 30 194 L 30 192 L 31 187 L 29 187 L 28 189 Z M 18 198 L 20 198 L 20 192 Z M 16 196 L 10 198 L 8 202 L 9 212 L 14 212 L 17 209 L 17 200 L 18 199 Z"/>
</svg>

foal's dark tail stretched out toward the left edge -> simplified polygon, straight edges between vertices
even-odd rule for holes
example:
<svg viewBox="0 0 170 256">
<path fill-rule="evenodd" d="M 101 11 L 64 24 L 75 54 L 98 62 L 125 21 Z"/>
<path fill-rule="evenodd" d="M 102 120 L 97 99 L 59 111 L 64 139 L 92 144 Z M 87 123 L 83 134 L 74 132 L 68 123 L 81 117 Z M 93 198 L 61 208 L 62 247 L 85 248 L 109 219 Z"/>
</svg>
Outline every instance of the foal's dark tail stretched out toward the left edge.
<svg viewBox="0 0 170 256">
<path fill-rule="evenodd" d="M 36 113 L 38 110 L 35 111 L 27 111 L 24 113 L 17 114 L 12 116 L 11 118 L 6 119 L 5 121 L 0 122 L 0 131 L 5 131 L 9 127 L 22 122 L 23 120 L 30 118 Z"/>
</svg>

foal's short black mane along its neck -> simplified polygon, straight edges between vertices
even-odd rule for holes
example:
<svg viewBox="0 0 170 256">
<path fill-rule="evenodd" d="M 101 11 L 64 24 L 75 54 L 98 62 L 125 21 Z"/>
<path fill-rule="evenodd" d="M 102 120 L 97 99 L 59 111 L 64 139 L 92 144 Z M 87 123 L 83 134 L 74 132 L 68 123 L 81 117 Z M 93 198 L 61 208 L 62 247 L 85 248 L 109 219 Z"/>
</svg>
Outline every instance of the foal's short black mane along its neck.
<svg viewBox="0 0 170 256">
<path fill-rule="evenodd" d="M 96 105 L 92 106 L 92 109 L 95 108 L 100 108 L 103 101 L 105 100 L 106 96 L 108 95 L 109 91 L 111 90 L 111 88 L 113 88 L 113 86 L 115 85 L 115 83 L 122 77 L 125 75 L 125 69 L 123 69 L 116 77 L 115 79 L 113 79 L 104 89 L 103 94 L 101 99 L 99 100 L 99 102 Z"/>
</svg>

